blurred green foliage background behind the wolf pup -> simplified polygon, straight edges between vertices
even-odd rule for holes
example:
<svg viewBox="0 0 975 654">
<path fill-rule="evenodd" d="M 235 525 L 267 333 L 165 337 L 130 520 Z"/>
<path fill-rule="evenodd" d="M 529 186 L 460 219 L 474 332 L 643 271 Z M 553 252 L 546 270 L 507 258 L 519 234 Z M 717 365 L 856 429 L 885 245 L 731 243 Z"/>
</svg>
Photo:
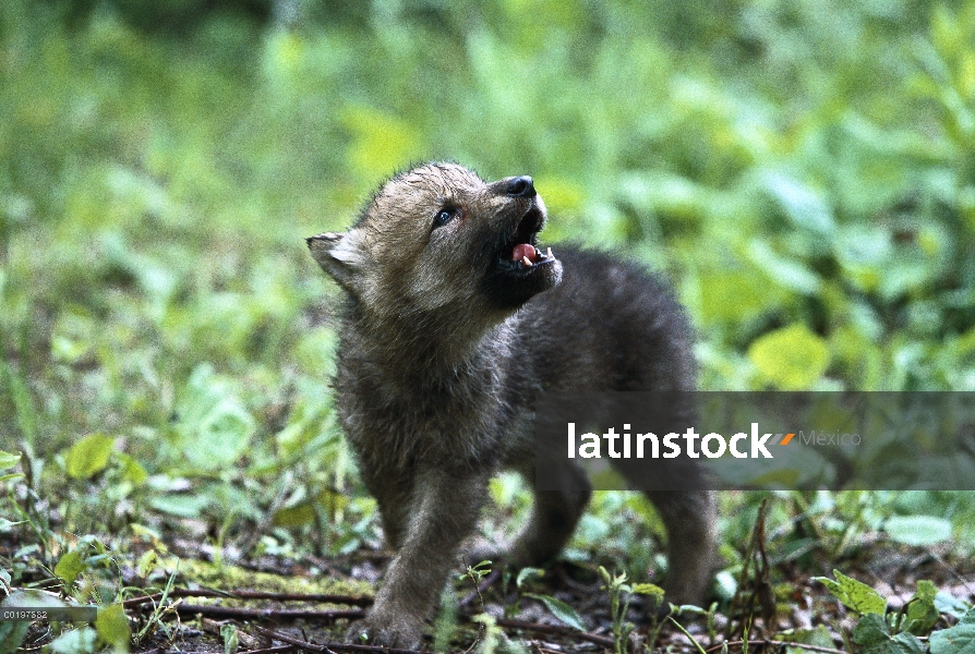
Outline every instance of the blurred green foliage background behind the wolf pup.
<svg viewBox="0 0 975 654">
<path fill-rule="evenodd" d="M 665 274 L 706 389 L 975 389 L 971 0 L 7 0 L 0 449 L 64 529 L 369 538 L 303 239 L 433 158 Z"/>
</svg>

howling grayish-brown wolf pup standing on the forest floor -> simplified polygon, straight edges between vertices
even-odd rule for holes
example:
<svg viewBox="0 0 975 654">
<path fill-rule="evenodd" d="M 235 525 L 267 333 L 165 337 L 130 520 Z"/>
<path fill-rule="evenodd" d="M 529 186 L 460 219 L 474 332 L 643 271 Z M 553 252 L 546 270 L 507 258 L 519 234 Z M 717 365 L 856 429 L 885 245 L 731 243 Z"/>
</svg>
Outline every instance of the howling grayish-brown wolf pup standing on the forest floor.
<svg viewBox="0 0 975 654">
<path fill-rule="evenodd" d="M 671 293 L 601 254 L 539 247 L 544 222 L 530 177 L 488 183 L 457 164 L 426 164 L 383 184 L 349 231 L 308 239 L 348 294 L 336 402 L 397 552 L 356 642 L 419 644 L 491 476 L 531 479 L 540 389 L 694 387 L 689 329 Z M 552 465 L 565 483 L 537 493 L 507 554 L 516 565 L 555 556 L 589 500 L 571 460 Z M 713 497 L 648 495 L 669 533 L 669 600 L 700 602 Z"/>
</svg>

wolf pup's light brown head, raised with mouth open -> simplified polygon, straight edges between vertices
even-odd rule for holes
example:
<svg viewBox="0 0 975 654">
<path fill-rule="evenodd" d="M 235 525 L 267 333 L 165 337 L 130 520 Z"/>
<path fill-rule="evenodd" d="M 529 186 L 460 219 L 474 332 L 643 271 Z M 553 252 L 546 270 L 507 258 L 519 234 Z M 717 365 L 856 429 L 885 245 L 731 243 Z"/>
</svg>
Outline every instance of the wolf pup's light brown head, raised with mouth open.
<svg viewBox="0 0 975 654">
<path fill-rule="evenodd" d="M 308 244 L 369 310 L 488 317 L 562 279 L 561 262 L 537 247 L 544 222 L 529 177 L 488 183 L 457 164 L 425 164 L 383 184 L 348 232 Z"/>
</svg>

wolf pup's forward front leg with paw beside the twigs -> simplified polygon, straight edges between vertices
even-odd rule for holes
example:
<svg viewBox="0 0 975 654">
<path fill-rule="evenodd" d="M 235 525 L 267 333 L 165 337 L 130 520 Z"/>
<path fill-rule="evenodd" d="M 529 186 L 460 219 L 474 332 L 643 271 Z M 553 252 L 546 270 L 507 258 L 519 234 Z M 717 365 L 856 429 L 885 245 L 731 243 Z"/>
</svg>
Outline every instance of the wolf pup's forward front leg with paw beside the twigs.
<svg viewBox="0 0 975 654">
<path fill-rule="evenodd" d="M 423 621 L 437 606 L 460 544 L 477 526 L 488 479 L 469 470 L 418 472 L 406 540 L 369 616 L 352 626 L 350 642 L 407 649 L 420 644 Z"/>
</svg>

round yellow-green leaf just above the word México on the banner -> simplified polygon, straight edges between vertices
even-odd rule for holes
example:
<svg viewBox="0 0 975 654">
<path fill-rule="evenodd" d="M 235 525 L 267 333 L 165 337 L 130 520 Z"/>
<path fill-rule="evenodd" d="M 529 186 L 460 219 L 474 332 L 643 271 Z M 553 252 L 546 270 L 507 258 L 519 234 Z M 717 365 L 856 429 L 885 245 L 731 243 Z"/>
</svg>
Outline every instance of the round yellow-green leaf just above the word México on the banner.
<svg viewBox="0 0 975 654">
<path fill-rule="evenodd" d="M 748 348 L 748 358 L 762 377 L 779 388 L 801 390 L 822 376 L 830 351 L 822 338 L 796 323 L 757 339 Z"/>
</svg>

